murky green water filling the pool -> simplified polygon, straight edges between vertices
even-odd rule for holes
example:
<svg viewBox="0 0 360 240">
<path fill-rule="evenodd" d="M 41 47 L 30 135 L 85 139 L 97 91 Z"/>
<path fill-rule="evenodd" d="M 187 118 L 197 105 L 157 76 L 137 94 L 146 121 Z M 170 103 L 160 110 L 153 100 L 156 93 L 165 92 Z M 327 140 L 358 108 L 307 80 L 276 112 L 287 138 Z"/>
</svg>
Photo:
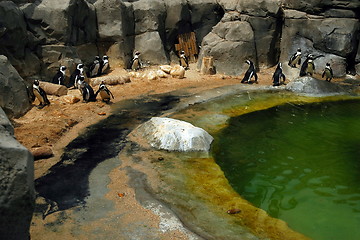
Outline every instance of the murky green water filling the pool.
<svg viewBox="0 0 360 240">
<path fill-rule="evenodd" d="M 315 240 L 360 239 L 360 101 L 231 118 L 213 154 L 232 187 Z"/>
</svg>

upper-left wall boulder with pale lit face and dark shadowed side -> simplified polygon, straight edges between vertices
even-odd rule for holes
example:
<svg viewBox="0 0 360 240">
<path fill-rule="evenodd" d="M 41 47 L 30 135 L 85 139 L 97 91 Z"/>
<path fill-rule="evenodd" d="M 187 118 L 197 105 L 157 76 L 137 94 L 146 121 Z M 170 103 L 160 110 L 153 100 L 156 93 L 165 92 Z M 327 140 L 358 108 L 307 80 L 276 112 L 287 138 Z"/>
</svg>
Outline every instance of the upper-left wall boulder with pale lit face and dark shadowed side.
<svg viewBox="0 0 360 240">
<path fill-rule="evenodd" d="M 22 7 L 31 32 L 46 44 L 95 42 L 95 7 L 85 0 L 29 3 Z"/>
</svg>

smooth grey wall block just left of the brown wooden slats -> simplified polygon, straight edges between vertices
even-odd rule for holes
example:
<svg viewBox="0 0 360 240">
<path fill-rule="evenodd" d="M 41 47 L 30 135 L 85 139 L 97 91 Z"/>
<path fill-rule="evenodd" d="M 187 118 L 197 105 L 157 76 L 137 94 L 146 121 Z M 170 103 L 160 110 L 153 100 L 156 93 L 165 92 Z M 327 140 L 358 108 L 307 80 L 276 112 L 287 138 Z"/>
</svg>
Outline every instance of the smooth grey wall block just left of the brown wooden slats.
<svg viewBox="0 0 360 240">
<path fill-rule="evenodd" d="M 142 63 L 168 64 L 164 46 L 158 32 L 146 32 L 135 37 L 135 49 L 141 53 Z"/>
</svg>

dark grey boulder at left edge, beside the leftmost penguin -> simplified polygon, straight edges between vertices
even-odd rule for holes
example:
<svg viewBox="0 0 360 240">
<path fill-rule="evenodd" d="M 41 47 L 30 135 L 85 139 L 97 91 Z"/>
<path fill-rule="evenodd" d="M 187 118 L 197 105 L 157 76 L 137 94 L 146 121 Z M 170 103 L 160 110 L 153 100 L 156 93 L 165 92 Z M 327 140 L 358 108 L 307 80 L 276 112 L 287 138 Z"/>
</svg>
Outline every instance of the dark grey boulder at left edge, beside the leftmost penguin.
<svg viewBox="0 0 360 240">
<path fill-rule="evenodd" d="M 25 81 L 3 55 L 0 55 L 0 107 L 9 117 L 20 117 L 31 107 Z"/>
</svg>

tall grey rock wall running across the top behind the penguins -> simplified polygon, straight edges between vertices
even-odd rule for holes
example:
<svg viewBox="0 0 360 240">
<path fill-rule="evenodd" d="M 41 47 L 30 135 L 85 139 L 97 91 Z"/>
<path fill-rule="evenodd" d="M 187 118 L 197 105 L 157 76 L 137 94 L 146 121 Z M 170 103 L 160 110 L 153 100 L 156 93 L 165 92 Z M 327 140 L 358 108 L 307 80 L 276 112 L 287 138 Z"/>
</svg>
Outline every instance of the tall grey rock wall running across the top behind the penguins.
<svg viewBox="0 0 360 240">
<path fill-rule="evenodd" d="M 95 55 L 121 67 L 135 50 L 147 64 L 177 62 L 178 34 L 194 31 L 198 65 L 211 55 L 219 73 L 240 75 L 249 58 L 271 67 L 300 47 L 342 76 L 359 69 L 359 10 L 357 0 L 0 1 L 0 54 L 46 81 Z"/>
</svg>

